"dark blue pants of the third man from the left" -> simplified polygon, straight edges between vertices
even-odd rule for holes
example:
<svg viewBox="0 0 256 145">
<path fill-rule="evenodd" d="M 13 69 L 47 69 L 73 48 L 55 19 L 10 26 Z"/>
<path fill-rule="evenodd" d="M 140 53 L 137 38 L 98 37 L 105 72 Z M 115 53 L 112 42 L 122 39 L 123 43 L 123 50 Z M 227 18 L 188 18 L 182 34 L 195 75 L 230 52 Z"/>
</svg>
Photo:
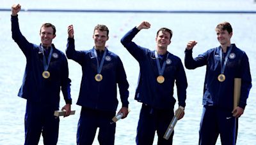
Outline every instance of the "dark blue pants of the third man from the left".
<svg viewBox="0 0 256 145">
<path fill-rule="evenodd" d="M 168 140 L 164 139 L 164 134 L 173 118 L 173 109 L 154 109 L 145 104 L 140 111 L 140 120 L 137 127 L 136 144 L 150 145 L 154 142 L 154 136 L 157 132 L 159 145 L 172 145 L 172 135 Z"/>
</svg>

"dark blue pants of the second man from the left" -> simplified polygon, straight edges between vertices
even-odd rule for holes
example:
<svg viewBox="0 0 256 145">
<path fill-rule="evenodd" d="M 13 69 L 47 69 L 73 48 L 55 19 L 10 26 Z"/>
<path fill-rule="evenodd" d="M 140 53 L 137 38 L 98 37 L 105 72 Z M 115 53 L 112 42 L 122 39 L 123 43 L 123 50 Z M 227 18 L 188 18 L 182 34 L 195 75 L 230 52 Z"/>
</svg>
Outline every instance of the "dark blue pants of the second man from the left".
<svg viewBox="0 0 256 145">
<path fill-rule="evenodd" d="M 99 127 L 100 145 L 115 143 L 116 123 L 111 123 L 115 111 L 98 111 L 82 107 L 77 127 L 77 144 L 92 145 L 96 130 Z"/>
</svg>

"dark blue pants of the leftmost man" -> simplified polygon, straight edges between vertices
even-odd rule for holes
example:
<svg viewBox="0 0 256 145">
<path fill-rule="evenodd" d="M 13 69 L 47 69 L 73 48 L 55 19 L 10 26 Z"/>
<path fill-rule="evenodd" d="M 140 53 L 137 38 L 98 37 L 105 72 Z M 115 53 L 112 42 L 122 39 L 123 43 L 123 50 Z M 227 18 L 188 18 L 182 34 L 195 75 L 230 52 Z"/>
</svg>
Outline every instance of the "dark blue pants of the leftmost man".
<svg viewBox="0 0 256 145">
<path fill-rule="evenodd" d="M 56 108 L 38 102 L 27 101 L 25 114 L 25 145 L 38 144 L 40 135 L 44 144 L 58 142 L 60 118 L 54 116 Z"/>
</svg>

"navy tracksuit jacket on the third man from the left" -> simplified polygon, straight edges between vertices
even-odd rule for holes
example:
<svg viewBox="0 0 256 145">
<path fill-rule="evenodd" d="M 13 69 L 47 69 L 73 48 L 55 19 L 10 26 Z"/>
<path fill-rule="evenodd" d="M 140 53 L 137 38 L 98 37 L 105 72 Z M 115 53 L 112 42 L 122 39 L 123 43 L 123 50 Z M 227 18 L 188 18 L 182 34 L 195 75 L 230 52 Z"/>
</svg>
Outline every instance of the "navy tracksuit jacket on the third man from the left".
<svg viewBox="0 0 256 145">
<path fill-rule="evenodd" d="M 138 29 L 134 27 L 121 40 L 121 43 L 140 64 L 140 78 L 136 88 L 135 99 L 157 109 L 173 109 L 176 102 L 173 97 L 173 87 L 174 83 L 176 83 L 179 106 L 185 107 L 188 83 L 181 60 L 179 57 L 167 52 L 169 53 L 167 59 L 170 59 L 171 63 L 166 64 L 163 73 L 164 83 L 157 83 L 156 78 L 159 73 L 154 51 L 132 42 L 138 32 Z M 166 60 L 166 56 L 167 54 L 163 60 Z"/>
</svg>

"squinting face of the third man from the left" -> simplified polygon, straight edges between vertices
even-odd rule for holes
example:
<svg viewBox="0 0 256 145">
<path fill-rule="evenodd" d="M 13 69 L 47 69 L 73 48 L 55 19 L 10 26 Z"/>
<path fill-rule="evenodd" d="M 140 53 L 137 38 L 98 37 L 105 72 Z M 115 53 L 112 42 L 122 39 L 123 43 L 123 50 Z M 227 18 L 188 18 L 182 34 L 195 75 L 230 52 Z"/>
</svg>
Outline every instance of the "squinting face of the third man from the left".
<svg viewBox="0 0 256 145">
<path fill-rule="evenodd" d="M 169 32 L 159 31 L 156 37 L 157 47 L 167 49 L 167 46 L 171 43 L 170 36 Z"/>
</svg>

